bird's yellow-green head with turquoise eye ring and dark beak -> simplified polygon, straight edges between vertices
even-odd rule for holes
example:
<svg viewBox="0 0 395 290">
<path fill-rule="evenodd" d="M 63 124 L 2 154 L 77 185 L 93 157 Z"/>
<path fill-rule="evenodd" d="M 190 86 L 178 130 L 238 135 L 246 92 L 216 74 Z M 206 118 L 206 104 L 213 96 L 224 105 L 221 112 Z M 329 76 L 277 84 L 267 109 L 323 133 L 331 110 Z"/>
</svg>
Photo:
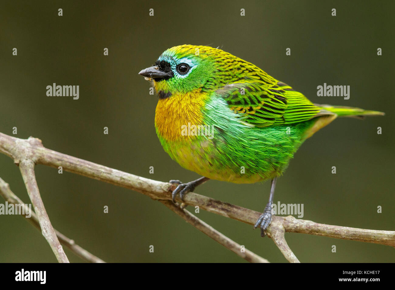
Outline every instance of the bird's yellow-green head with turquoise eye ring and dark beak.
<svg viewBox="0 0 395 290">
<path fill-rule="evenodd" d="M 220 49 L 202 45 L 179 45 L 167 49 L 155 65 L 140 75 L 152 80 L 159 97 L 192 90 L 215 90 L 243 78 L 244 62 Z"/>
</svg>

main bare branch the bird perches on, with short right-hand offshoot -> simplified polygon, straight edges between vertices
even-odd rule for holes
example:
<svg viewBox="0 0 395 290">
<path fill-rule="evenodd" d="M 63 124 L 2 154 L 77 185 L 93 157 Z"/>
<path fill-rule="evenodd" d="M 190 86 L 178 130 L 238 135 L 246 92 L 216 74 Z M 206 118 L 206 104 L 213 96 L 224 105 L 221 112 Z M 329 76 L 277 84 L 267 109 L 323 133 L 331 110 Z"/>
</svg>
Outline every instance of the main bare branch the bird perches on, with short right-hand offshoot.
<svg viewBox="0 0 395 290">
<path fill-rule="evenodd" d="M 47 165 L 55 168 L 62 166 L 66 171 L 132 189 L 150 196 L 150 198 L 155 200 L 171 200 L 171 189 L 174 189 L 174 185 L 167 182 L 150 180 L 148 178 L 143 178 L 141 176 L 136 176 L 134 174 L 129 174 L 49 150 L 42 146 L 41 140 L 33 137 L 29 137 L 25 140 L 0 133 L 0 152 L 11 157 L 16 164 L 19 164 L 25 156 L 29 156 L 29 159 L 33 160 L 36 164 Z M 177 201 L 181 202 L 178 197 Z M 261 214 L 258 211 L 214 200 L 213 198 L 198 195 L 196 193 L 188 193 L 184 197 L 184 203 L 191 206 L 199 206 L 199 208 L 203 210 L 207 210 L 224 217 L 229 217 L 249 225 L 254 225 L 255 221 Z M 292 216 L 273 216 L 271 225 L 267 230 L 267 234 L 273 239 L 278 238 L 279 240 L 277 240 L 277 243 L 278 246 L 281 247 L 280 249 L 285 253 L 288 260 L 292 259 L 295 262 L 297 262 L 297 258 L 291 254 L 292 252 L 289 252 L 286 249 L 288 245 L 286 245 L 286 242 L 284 244 L 285 240 L 282 245 L 280 245 L 282 232 L 278 234 L 276 231 L 282 231 L 281 228 L 284 228 L 285 232 L 299 232 L 338 239 L 378 243 L 395 247 L 395 231 L 367 230 L 344 226 L 324 225 L 314 223 L 312 221 L 295 219 Z"/>
</svg>

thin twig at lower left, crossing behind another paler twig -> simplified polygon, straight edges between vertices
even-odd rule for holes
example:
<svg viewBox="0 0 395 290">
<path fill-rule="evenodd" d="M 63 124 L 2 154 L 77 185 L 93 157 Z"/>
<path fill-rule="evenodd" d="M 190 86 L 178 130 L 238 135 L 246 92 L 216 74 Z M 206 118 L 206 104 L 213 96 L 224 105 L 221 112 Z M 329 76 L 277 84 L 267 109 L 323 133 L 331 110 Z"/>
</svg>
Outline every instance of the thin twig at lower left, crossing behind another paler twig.
<svg viewBox="0 0 395 290">
<path fill-rule="evenodd" d="M 32 224 L 35 228 L 41 231 L 40 223 L 38 222 L 36 213 L 31 211 L 29 213 L 29 208 L 24 204 L 24 202 L 16 196 L 11 189 L 9 188 L 9 184 L 6 181 L 0 178 L 0 195 L 3 196 L 4 200 L 8 201 L 10 204 L 21 205 L 24 207 L 25 215 L 22 215 L 26 221 Z M 27 217 L 31 214 L 31 217 Z M 91 262 L 91 263 L 105 263 L 102 259 L 96 257 L 95 255 L 89 253 L 87 250 L 81 248 L 77 245 L 74 240 L 69 239 L 64 234 L 60 233 L 58 230 L 55 229 L 56 236 L 58 237 L 60 243 L 67 247 L 72 253 L 76 254 L 80 258 Z"/>
</svg>

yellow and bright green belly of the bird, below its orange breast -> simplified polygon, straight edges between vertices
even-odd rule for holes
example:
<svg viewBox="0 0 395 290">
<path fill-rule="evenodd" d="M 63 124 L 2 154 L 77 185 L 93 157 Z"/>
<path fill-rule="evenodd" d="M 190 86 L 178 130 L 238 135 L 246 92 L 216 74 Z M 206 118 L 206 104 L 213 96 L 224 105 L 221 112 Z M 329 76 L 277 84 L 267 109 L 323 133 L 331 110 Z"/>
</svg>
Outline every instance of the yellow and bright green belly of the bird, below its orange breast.
<svg viewBox="0 0 395 290">
<path fill-rule="evenodd" d="M 293 140 L 268 138 L 273 129 L 247 130 L 245 135 L 218 131 L 212 139 L 162 140 L 162 145 L 182 167 L 214 180 L 255 183 L 280 175 L 296 150 Z"/>
</svg>

